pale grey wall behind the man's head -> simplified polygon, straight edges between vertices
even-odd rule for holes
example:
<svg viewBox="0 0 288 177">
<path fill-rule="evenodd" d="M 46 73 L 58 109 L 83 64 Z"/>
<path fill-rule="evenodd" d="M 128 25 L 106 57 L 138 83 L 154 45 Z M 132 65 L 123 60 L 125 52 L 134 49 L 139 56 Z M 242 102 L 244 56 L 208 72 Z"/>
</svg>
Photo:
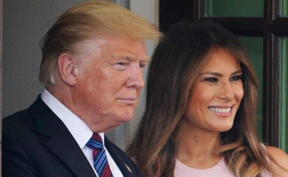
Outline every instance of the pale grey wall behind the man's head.
<svg viewBox="0 0 288 177">
<path fill-rule="evenodd" d="M 2 117 L 26 109 L 43 90 L 38 83 L 41 62 L 40 39 L 53 19 L 66 9 L 89 0 L 3 0 L 3 81 Z M 108 0 L 155 23 L 155 0 Z M 52 21 L 50 21 L 52 20 Z M 50 23 L 48 23 L 50 21 Z M 147 44 L 151 54 L 153 44 Z M 146 74 L 145 74 L 146 75 Z M 141 92 L 135 119 L 107 133 L 109 139 L 124 149 L 144 110 Z"/>
</svg>

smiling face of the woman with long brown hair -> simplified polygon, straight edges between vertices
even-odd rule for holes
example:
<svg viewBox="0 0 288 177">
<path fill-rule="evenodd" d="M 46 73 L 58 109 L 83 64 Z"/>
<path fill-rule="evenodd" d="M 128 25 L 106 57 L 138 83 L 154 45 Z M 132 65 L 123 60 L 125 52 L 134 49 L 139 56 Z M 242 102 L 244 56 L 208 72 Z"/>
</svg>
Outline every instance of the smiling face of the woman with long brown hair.
<svg viewBox="0 0 288 177">
<path fill-rule="evenodd" d="M 241 78 L 239 61 L 224 49 L 216 50 L 190 89 L 183 121 L 193 128 L 228 131 L 244 94 Z"/>
</svg>

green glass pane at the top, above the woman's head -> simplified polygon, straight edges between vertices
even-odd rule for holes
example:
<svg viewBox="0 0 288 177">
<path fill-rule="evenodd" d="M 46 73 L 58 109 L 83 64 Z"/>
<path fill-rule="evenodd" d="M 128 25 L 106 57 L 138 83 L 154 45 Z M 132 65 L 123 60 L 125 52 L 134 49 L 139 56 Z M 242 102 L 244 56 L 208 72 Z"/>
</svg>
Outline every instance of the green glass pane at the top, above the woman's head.
<svg viewBox="0 0 288 177">
<path fill-rule="evenodd" d="M 264 0 L 205 0 L 205 16 L 263 17 Z"/>
</svg>

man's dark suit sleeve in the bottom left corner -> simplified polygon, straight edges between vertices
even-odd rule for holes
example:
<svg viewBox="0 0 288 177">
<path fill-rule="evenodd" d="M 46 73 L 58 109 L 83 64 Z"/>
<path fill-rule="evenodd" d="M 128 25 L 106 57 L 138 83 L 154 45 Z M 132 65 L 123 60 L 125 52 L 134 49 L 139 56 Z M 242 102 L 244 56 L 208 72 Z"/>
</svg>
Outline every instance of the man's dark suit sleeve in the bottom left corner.
<svg viewBox="0 0 288 177">
<path fill-rule="evenodd" d="M 2 177 L 38 177 L 35 167 L 21 146 L 2 133 Z"/>
</svg>

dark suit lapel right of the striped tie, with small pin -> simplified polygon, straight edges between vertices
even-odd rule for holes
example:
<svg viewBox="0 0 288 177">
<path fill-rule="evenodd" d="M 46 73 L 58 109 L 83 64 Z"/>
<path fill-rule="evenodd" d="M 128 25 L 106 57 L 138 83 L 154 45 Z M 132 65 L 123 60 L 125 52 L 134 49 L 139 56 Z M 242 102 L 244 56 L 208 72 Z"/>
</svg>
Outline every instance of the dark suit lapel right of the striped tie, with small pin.
<svg viewBox="0 0 288 177">
<path fill-rule="evenodd" d="M 126 162 L 123 159 L 119 158 L 119 153 L 117 152 L 117 150 L 115 150 L 111 146 L 111 142 L 107 139 L 106 136 L 105 136 L 105 147 L 109 151 L 111 157 L 113 158 L 113 160 L 117 164 L 118 168 L 120 169 L 120 171 L 122 172 L 122 175 L 124 177 L 129 177 L 129 176 L 135 175 L 134 173 L 131 173 L 128 171 L 128 168 L 125 166 Z"/>
</svg>

